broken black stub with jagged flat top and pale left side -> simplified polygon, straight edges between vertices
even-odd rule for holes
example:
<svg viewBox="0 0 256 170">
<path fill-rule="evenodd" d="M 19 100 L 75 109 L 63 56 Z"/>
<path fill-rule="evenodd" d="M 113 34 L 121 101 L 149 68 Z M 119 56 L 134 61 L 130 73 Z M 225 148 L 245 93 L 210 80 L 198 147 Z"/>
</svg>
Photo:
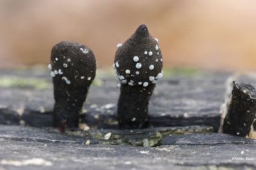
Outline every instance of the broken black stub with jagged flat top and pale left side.
<svg viewBox="0 0 256 170">
<path fill-rule="evenodd" d="M 232 99 L 223 124 L 223 133 L 247 136 L 256 114 L 256 89 L 252 83 L 234 81 Z"/>
</svg>

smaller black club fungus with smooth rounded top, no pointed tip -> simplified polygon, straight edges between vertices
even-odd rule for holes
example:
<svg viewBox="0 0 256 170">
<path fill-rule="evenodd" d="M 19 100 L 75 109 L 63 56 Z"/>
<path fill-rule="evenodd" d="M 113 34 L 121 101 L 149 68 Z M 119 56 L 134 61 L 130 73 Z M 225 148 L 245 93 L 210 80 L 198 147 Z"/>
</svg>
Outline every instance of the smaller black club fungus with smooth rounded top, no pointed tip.
<svg viewBox="0 0 256 170">
<path fill-rule="evenodd" d="M 54 126 L 77 127 L 79 113 L 95 78 L 95 56 L 85 45 L 61 41 L 51 50 L 51 76 L 54 86 Z"/>
</svg>

